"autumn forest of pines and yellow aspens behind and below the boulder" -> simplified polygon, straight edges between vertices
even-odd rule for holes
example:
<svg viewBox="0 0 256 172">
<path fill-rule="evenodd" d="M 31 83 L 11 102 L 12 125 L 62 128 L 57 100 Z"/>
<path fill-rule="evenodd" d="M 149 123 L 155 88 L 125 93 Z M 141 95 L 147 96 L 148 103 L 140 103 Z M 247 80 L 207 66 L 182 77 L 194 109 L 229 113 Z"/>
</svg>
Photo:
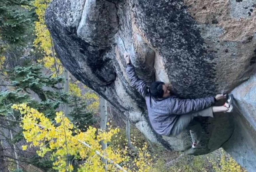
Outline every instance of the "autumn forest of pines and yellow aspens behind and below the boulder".
<svg viewBox="0 0 256 172">
<path fill-rule="evenodd" d="M 222 149 L 188 156 L 149 142 L 69 74 L 45 25 L 50 2 L 0 1 L 0 172 L 245 171 Z"/>
</svg>

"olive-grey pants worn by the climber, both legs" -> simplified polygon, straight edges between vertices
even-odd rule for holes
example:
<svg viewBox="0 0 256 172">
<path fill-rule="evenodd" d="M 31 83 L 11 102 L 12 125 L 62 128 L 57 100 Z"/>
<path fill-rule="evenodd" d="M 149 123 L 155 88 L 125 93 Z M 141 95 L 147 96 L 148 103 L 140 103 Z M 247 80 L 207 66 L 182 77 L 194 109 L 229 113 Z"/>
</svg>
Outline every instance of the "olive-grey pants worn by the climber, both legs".
<svg viewBox="0 0 256 172">
<path fill-rule="evenodd" d="M 213 117 L 212 107 L 206 108 L 197 112 L 186 113 L 179 115 L 178 120 L 175 122 L 170 136 L 176 136 L 183 130 L 189 129 L 192 142 L 199 143 L 202 133 L 201 124 L 197 121 L 193 121 L 196 116 Z"/>
</svg>

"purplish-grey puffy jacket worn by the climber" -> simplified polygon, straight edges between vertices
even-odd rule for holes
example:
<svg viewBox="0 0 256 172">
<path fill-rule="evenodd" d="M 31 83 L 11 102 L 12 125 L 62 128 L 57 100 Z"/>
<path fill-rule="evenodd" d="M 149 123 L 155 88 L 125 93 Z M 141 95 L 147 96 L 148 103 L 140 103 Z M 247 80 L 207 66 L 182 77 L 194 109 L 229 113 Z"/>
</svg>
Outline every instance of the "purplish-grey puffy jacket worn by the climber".
<svg viewBox="0 0 256 172">
<path fill-rule="evenodd" d="M 126 72 L 131 80 L 131 86 L 145 98 L 148 108 L 149 120 L 153 129 L 160 135 L 169 136 L 171 130 L 179 118 L 179 115 L 193 111 L 203 110 L 214 103 L 213 97 L 200 99 L 179 99 L 171 96 L 163 99 L 156 99 L 146 96 L 147 83 L 139 79 L 133 65 L 127 65 Z M 150 105 L 151 99 L 151 105 Z"/>
</svg>

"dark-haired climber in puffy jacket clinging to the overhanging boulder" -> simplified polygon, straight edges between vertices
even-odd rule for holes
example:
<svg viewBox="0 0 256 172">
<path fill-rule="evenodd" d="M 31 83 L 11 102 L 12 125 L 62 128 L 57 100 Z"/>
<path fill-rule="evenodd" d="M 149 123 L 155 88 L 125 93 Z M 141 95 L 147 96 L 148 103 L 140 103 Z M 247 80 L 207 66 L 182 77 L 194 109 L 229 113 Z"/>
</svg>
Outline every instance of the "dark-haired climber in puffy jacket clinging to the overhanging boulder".
<svg viewBox="0 0 256 172">
<path fill-rule="evenodd" d="M 180 99 L 168 90 L 164 82 L 153 82 L 150 87 L 139 79 L 129 54 L 124 54 L 127 67 L 126 72 L 138 92 L 145 98 L 150 123 L 160 135 L 176 136 L 183 130 L 190 129 L 192 148 L 200 148 L 201 125 L 193 120 L 196 116 L 213 117 L 213 112 L 231 112 L 233 96 L 229 95 L 223 106 L 213 106 L 215 101 L 226 99 L 226 95 L 218 94 L 215 97 L 200 99 Z"/>
</svg>

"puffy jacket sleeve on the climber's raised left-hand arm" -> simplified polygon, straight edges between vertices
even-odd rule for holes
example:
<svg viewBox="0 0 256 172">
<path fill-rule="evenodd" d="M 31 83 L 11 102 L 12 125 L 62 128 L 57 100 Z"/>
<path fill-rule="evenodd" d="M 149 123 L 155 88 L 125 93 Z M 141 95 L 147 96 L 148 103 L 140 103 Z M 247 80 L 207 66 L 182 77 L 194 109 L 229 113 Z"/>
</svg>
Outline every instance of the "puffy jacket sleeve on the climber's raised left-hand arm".
<svg viewBox="0 0 256 172">
<path fill-rule="evenodd" d="M 136 90 L 145 98 L 145 90 L 147 87 L 146 82 L 138 78 L 133 65 L 127 65 L 126 72 L 131 80 L 131 86 L 135 87 Z"/>
</svg>

